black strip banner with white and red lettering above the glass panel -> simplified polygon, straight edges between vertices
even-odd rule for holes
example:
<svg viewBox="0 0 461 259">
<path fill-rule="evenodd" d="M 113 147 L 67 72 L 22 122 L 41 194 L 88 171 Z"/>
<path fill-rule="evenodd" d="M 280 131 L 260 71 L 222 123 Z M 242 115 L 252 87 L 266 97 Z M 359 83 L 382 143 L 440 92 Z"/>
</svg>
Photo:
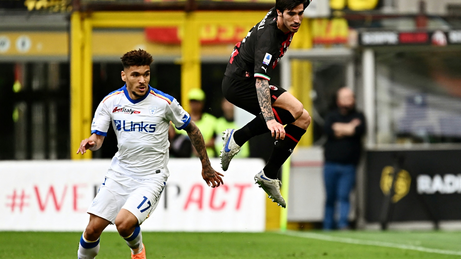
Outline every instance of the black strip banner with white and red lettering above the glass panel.
<svg viewBox="0 0 461 259">
<path fill-rule="evenodd" d="M 442 30 L 432 32 L 368 31 L 361 32 L 360 44 L 363 46 L 447 46 L 450 44 L 461 44 L 461 30 L 449 32 Z"/>
</svg>

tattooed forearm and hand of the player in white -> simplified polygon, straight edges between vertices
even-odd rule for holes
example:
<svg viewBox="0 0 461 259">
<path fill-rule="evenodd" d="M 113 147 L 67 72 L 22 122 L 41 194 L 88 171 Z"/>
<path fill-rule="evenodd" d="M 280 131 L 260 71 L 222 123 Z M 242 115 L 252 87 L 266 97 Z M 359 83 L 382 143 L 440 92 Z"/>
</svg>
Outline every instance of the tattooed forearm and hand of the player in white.
<svg viewBox="0 0 461 259">
<path fill-rule="evenodd" d="M 221 176 L 224 175 L 214 171 L 213 167 L 211 167 L 210 160 L 207 155 L 207 148 L 205 147 L 205 141 L 203 140 L 203 136 L 194 121 L 190 121 L 189 125 L 185 127 L 184 130 L 187 132 L 187 135 L 189 135 L 190 141 L 199 155 L 202 163 L 202 178 L 205 182 L 207 182 L 208 186 L 211 187 L 218 187 L 220 184 L 224 184 L 223 179 L 221 178 Z"/>
</svg>

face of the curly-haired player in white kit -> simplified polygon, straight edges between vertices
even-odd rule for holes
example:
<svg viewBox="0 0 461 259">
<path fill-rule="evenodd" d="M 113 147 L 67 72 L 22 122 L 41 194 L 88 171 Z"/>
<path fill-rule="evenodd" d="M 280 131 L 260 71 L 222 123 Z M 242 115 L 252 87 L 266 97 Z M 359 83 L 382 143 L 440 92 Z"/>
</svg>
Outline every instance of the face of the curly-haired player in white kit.
<svg viewBox="0 0 461 259">
<path fill-rule="evenodd" d="M 130 66 L 123 69 L 122 80 L 126 82 L 126 89 L 130 92 L 130 96 L 134 96 L 135 99 L 141 98 L 149 91 L 150 67 Z"/>
</svg>

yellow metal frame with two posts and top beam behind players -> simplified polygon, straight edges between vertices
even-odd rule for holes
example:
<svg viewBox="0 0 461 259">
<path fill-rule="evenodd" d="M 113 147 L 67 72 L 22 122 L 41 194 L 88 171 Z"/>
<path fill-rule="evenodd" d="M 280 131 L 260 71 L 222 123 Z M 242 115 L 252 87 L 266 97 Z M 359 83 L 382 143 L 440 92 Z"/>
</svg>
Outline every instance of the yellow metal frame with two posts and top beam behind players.
<svg viewBox="0 0 461 259">
<path fill-rule="evenodd" d="M 145 28 L 183 26 L 181 45 L 181 97 L 189 108 L 186 94 L 201 87 L 200 25 L 206 23 L 256 24 L 266 12 L 92 12 L 72 13 L 71 18 L 71 158 L 91 158 L 75 154 L 83 138 L 89 136 L 92 118 L 92 31 L 93 28 Z M 120 53 L 120 55 L 123 53 Z"/>
</svg>

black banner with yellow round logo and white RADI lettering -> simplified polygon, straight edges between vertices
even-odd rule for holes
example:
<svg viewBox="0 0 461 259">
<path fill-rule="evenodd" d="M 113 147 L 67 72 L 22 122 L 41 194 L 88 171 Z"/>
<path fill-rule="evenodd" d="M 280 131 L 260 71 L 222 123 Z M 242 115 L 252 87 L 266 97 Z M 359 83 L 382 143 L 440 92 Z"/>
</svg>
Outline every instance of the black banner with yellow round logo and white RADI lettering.
<svg viewBox="0 0 461 259">
<path fill-rule="evenodd" d="M 386 195 L 393 205 L 391 221 L 461 219 L 461 150 L 368 151 L 366 156 L 368 222 L 383 219 Z"/>
</svg>

